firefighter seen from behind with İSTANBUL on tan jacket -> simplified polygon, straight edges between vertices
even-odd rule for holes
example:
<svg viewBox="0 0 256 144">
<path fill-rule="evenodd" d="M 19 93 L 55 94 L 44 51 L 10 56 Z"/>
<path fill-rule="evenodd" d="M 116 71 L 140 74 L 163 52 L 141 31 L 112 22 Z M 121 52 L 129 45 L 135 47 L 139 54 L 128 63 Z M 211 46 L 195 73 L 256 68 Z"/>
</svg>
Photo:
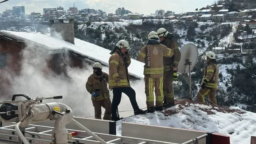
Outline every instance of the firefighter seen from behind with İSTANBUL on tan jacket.
<svg viewBox="0 0 256 144">
<path fill-rule="evenodd" d="M 144 81 L 147 112 L 163 110 L 163 57 L 172 57 L 173 51 L 163 44 L 160 44 L 158 34 L 151 31 L 148 34 L 148 42 L 143 46 L 137 55 L 137 60 L 145 62 Z M 156 105 L 154 106 L 154 88 Z"/>
</svg>

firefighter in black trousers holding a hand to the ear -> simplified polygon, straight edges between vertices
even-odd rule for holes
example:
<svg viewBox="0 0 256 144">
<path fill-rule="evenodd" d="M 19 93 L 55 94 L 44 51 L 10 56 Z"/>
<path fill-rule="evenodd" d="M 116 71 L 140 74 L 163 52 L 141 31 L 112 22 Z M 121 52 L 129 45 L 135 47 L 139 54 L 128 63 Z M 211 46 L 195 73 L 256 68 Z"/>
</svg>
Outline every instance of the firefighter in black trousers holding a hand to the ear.
<svg viewBox="0 0 256 144">
<path fill-rule="evenodd" d="M 125 93 L 132 104 L 134 114 L 145 114 L 147 110 L 139 108 L 136 101 L 136 93 L 130 86 L 128 66 L 131 64 L 130 54 L 127 51 L 129 44 L 126 40 L 120 40 L 110 52 L 109 58 L 109 89 L 113 90 L 111 105 L 112 120 L 117 121 L 117 107 L 120 104 L 122 93 Z"/>
</svg>

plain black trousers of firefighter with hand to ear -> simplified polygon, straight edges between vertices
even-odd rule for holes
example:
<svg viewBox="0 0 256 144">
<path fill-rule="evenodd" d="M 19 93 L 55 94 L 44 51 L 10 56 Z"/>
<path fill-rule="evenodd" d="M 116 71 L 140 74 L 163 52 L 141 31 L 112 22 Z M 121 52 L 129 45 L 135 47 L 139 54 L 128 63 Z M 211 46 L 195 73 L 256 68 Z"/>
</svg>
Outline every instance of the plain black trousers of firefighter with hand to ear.
<svg viewBox="0 0 256 144">
<path fill-rule="evenodd" d="M 122 93 L 125 93 L 132 104 L 133 110 L 139 109 L 139 106 L 136 101 L 136 93 L 132 87 L 114 87 L 113 89 L 113 100 L 111 105 L 111 114 L 113 118 L 117 117 L 117 107 L 120 104 Z"/>
</svg>

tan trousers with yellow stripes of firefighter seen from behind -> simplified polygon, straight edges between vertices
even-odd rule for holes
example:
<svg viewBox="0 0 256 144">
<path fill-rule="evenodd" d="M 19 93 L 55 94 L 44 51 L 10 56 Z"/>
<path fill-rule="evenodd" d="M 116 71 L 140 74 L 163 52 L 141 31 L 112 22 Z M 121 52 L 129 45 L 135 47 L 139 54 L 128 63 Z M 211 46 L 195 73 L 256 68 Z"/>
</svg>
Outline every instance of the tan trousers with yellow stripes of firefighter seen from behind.
<svg viewBox="0 0 256 144">
<path fill-rule="evenodd" d="M 154 106 L 154 88 L 156 96 L 156 107 L 163 106 L 163 77 L 149 78 L 145 77 L 145 93 L 147 108 Z"/>
</svg>

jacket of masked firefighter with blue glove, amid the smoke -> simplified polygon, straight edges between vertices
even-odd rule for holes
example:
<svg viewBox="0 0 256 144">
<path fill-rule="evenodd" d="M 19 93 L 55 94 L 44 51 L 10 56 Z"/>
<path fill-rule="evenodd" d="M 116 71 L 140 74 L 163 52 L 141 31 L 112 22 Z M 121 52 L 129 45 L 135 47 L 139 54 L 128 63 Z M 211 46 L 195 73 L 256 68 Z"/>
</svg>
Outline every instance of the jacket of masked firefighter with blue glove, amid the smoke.
<svg viewBox="0 0 256 144">
<path fill-rule="evenodd" d="M 92 96 L 92 100 L 100 101 L 104 97 L 105 99 L 109 98 L 109 90 L 108 90 L 108 74 L 101 72 L 101 77 L 98 77 L 95 73 L 91 74 L 85 84 L 86 90 L 92 94 L 93 92 L 97 92 L 98 96 Z"/>
</svg>

